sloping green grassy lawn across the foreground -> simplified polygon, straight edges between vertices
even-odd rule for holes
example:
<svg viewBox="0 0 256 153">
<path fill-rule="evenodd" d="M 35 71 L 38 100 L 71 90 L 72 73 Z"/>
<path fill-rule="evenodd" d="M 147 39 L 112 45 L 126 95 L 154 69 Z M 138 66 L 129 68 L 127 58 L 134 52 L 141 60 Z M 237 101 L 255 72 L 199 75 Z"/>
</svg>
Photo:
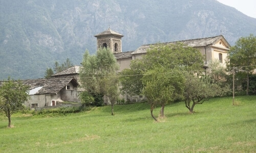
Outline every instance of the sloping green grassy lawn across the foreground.
<svg viewBox="0 0 256 153">
<path fill-rule="evenodd" d="M 189 114 L 167 105 L 155 122 L 147 104 L 93 108 L 53 117 L 0 117 L 0 152 L 256 152 L 256 96 L 214 98 Z M 156 108 L 154 114 L 159 114 Z"/>
</svg>

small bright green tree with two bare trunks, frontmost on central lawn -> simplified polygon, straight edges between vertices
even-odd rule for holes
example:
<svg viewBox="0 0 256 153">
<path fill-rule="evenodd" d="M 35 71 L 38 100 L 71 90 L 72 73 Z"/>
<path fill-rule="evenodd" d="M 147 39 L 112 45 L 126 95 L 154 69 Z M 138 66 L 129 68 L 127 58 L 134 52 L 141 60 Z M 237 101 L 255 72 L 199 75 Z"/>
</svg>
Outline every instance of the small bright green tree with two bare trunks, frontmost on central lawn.
<svg viewBox="0 0 256 153">
<path fill-rule="evenodd" d="M 147 71 L 142 78 L 144 88 L 142 94 L 147 97 L 151 105 L 151 116 L 157 105 L 161 105 L 160 116 L 164 117 L 164 106 L 176 99 L 181 98 L 184 78 L 181 73 L 173 69 L 166 72 L 164 69 L 154 69 Z"/>
</svg>

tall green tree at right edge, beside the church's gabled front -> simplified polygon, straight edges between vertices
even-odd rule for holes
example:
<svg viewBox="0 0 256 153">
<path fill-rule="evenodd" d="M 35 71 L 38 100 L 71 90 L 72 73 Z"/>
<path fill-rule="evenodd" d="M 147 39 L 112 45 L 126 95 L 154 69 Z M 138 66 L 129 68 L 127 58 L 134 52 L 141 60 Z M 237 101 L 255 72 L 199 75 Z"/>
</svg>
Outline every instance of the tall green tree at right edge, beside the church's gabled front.
<svg viewBox="0 0 256 153">
<path fill-rule="evenodd" d="M 227 67 L 236 67 L 246 73 L 246 95 L 249 95 L 249 74 L 256 68 L 256 36 L 241 37 L 228 54 Z"/>
</svg>

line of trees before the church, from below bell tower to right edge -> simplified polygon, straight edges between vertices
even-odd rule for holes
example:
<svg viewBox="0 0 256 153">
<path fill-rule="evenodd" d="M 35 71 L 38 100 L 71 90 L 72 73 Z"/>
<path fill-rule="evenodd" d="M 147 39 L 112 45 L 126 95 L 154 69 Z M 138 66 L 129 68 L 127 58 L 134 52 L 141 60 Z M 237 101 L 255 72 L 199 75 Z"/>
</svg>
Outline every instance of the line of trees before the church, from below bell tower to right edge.
<svg viewBox="0 0 256 153">
<path fill-rule="evenodd" d="M 228 54 L 228 69 L 212 61 L 207 71 L 202 68 L 204 57 L 196 48 L 182 43 L 153 45 L 142 59 L 132 61 L 130 69 L 124 69 L 119 79 L 116 73 L 118 65 L 110 50 L 100 48 L 93 56 L 87 51 L 80 72 L 82 87 L 87 92 L 80 97 L 83 103 L 90 104 L 95 103 L 96 96 L 106 95 L 111 101 L 113 115 L 120 82 L 123 94 L 147 98 L 155 120 L 153 110 L 157 105 L 161 106 L 160 116 L 163 117 L 165 104 L 176 100 L 184 100 L 186 108 L 193 113 L 195 105 L 230 91 L 228 70 L 231 67 L 241 67 L 236 69 L 238 73 L 246 72 L 248 94 L 248 76 L 256 65 L 255 42 L 253 35 L 240 38 Z"/>
</svg>

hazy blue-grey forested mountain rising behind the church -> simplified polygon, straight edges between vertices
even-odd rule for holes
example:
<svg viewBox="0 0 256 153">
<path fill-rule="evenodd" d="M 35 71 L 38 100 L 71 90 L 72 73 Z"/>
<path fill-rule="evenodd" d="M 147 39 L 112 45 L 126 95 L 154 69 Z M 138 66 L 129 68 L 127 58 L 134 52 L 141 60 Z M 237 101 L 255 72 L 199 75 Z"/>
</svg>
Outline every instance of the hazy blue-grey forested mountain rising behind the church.
<svg viewBox="0 0 256 153">
<path fill-rule="evenodd" d="M 109 25 L 124 35 L 123 52 L 220 34 L 233 45 L 256 35 L 255 18 L 215 0 L 0 0 L 0 80 L 43 78 L 67 58 L 79 65 Z"/>
</svg>

